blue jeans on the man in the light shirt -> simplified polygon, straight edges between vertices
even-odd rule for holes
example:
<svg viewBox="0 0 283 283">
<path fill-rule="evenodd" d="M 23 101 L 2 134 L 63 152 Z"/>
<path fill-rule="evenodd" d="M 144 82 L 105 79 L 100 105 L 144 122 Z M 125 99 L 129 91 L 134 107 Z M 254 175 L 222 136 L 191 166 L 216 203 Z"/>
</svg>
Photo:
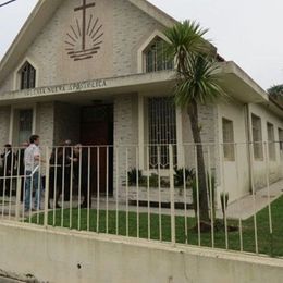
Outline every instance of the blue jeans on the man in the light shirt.
<svg viewBox="0 0 283 283">
<path fill-rule="evenodd" d="M 41 200 L 41 192 L 42 192 L 42 182 L 41 176 L 38 172 L 35 172 L 32 175 L 30 171 L 25 172 L 25 209 L 32 209 L 32 199 L 33 199 L 33 192 L 36 192 L 35 195 L 35 209 L 40 209 L 40 200 Z"/>
</svg>

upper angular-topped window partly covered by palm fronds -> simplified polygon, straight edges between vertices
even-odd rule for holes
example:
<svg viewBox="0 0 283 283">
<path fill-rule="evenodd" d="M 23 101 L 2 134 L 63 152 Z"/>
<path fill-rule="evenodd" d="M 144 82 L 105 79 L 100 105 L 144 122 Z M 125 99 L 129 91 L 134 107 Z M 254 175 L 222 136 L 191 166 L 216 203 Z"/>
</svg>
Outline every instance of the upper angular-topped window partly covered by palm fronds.
<svg viewBox="0 0 283 283">
<path fill-rule="evenodd" d="M 173 69 L 173 60 L 165 53 L 165 41 L 157 37 L 145 51 L 146 72 L 157 72 Z"/>
</svg>

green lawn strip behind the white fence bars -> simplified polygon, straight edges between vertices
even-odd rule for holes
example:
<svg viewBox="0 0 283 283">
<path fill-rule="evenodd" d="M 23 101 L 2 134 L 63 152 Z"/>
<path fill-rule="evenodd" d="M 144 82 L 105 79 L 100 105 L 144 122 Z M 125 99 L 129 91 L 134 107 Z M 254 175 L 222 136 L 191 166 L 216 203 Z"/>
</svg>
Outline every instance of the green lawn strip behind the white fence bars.
<svg viewBox="0 0 283 283">
<path fill-rule="evenodd" d="M 260 254 L 267 254 L 272 257 L 283 256 L 283 196 L 271 205 L 272 211 L 272 227 L 273 233 L 270 233 L 269 227 L 269 210 L 268 208 L 259 211 L 256 214 L 257 218 L 257 235 L 258 235 L 258 249 Z M 49 212 L 48 224 L 54 226 L 71 227 L 82 231 L 93 231 L 97 233 L 109 233 L 118 234 L 122 236 L 131 236 L 142 238 L 151 238 L 157 241 L 171 242 L 171 218 L 170 216 L 162 214 L 159 218 L 158 214 L 150 214 L 150 223 L 148 222 L 147 213 L 139 213 L 137 218 L 136 212 L 128 212 L 128 216 L 125 211 L 119 211 L 118 222 L 116 222 L 116 212 L 109 211 L 108 221 L 107 213 L 104 210 L 100 210 L 99 214 L 95 209 L 89 211 L 89 217 L 86 209 L 70 209 L 56 210 Z M 62 218 L 63 213 L 63 218 Z M 81 221 L 78 222 L 78 213 L 81 213 Z M 54 218 L 53 218 L 54 216 Z M 71 218 L 70 218 L 71 216 Z M 98 221 L 97 221 L 98 220 Z M 29 221 L 28 219 L 26 221 Z M 30 221 L 33 223 L 42 224 L 44 214 L 34 216 Z M 220 220 L 219 220 L 220 221 Z M 137 225 L 139 222 L 139 225 Z M 187 231 L 185 230 L 185 222 L 187 223 Z M 108 227 L 107 227 L 108 223 Z M 194 229 L 195 226 L 194 218 L 185 217 L 175 217 L 175 233 L 176 242 L 189 245 L 198 245 L 198 233 Z M 242 222 L 243 231 L 243 250 L 244 251 L 256 251 L 256 241 L 255 241 L 255 225 L 254 217 Z M 237 226 L 238 221 L 229 220 L 229 225 Z M 150 234 L 148 233 L 148 225 L 150 226 Z M 138 229 L 139 226 L 139 229 Z M 200 234 L 200 245 L 211 247 L 212 246 L 212 233 L 201 233 Z M 214 232 L 214 247 L 225 248 L 225 232 L 218 231 Z M 241 233 L 229 232 L 227 233 L 227 244 L 229 249 L 241 250 Z"/>
</svg>

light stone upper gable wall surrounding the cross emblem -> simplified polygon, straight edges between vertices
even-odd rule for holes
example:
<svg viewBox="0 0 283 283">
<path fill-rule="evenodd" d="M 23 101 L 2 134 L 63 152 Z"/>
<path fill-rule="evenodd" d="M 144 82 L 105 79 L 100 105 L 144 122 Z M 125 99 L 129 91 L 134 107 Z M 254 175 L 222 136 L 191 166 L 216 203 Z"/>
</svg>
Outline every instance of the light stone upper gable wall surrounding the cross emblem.
<svg viewBox="0 0 283 283">
<path fill-rule="evenodd" d="M 82 20 L 81 13 L 74 14 L 74 8 L 79 4 L 81 0 L 63 1 L 14 72 L 0 86 L 0 94 L 14 89 L 14 82 L 17 82 L 15 87 L 19 88 L 17 71 L 25 60 L 37 70 L 37 86 L 137 73 L 138 48 L 153 30 L 164 27 L 127 0 L 98 0 L 95 10 L 87 12 L 87 19 L 90 14 L 98 17 L 102 24 L 103 42 L 93 59 L 74 61 L 67 56 L 65 41 L 70 25 L 75 24 L 75 19 Z"/>
</svg>

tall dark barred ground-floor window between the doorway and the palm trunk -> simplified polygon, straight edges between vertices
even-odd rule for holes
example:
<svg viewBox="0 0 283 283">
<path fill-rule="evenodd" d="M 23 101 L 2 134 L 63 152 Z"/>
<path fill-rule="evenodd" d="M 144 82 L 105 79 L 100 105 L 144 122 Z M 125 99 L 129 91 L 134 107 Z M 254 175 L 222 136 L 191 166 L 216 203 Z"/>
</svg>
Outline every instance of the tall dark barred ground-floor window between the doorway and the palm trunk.
<svg viewBox="0 0 283 283">
<path fill-rule="evenodd" d="M 169 145 L 173 145 L 173 162 L 176 165 L 176 112 L 172 98 L 149 98 L 149 167 L 168 169 Z"/>
</svg>

